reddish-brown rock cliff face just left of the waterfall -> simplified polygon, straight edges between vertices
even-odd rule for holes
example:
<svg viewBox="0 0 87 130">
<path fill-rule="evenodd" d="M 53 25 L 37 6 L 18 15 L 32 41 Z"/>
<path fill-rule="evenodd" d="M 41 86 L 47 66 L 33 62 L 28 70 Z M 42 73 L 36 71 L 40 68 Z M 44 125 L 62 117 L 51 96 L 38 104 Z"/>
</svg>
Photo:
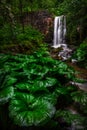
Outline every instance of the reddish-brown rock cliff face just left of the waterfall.
<svg viewBox="0 0 87 130">
<path fill-rule="evenodd" d="M 45 36 L 45 42 L 52 43 L 54 21 L 52 14 L 48 11 L 25 13 L 23 21 L 25 25 L 32 25 L 38 29 Z"/>
</svg>

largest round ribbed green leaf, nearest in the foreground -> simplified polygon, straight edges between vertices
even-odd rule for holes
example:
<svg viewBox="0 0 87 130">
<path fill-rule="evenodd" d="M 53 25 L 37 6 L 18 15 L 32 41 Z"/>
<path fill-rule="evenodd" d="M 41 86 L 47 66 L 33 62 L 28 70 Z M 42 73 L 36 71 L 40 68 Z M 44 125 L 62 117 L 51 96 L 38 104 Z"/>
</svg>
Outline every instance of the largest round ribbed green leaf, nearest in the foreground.
<svg viewBox="0 0 87 130">
<path fill-rule="evenodd" d="M 53 105 L 26 93 L 17 93 L 9 106 L 9 116 L 20 126 L 38 126 L 49 121 L 55 113 Z"/>
</svg>

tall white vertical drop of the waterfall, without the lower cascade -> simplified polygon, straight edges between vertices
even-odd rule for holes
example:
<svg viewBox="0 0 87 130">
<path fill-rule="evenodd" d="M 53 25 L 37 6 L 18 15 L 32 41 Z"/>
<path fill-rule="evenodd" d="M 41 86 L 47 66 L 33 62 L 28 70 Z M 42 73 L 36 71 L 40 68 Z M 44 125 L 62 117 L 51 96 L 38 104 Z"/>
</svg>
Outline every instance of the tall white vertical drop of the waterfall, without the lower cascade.
<svg viewBox="0 0 87 130">
<path fill-rule="evenodd" d="M 65 44 L 66 35 L 66 17 L 64 15 L 55 17 L 54 19 L 54 40 L 53 47 L 58 48 Z"/>
</svg>

